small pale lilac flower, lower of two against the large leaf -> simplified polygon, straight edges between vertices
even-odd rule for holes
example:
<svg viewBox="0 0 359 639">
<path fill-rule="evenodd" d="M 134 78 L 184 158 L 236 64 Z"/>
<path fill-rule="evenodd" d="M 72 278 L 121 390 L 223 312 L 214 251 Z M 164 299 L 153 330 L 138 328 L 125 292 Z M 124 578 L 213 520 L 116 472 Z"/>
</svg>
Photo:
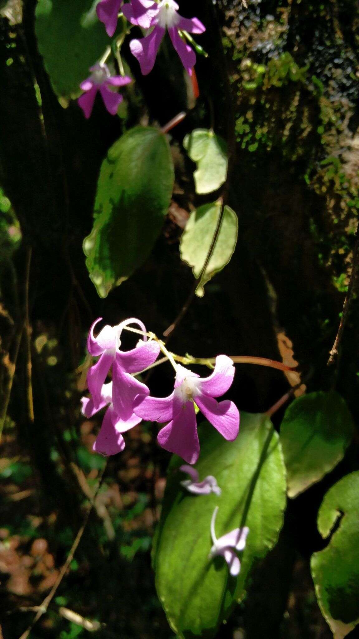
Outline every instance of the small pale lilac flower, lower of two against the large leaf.
<svg viewBox="0 0 359 639">
<path fill-rule="evenodd" d="M 215 507 L 211 519 L 211 537 L 213 546 L 210 551 L 210 559 L 217 557 L 218 555 L 224 557 L 229 567 L 229 573 L 231 573 L 233 577 L 236 577 L 240 574 L 241 562 L 234 550 L 245 549 L 249 528 L 248 526 L 244 526 L 243 528 L 234 528 L 231 532 L 227 532 L 226 535 L 217 539 L 215 533 L 217 512 L 218 506 Z"/>
</svg>

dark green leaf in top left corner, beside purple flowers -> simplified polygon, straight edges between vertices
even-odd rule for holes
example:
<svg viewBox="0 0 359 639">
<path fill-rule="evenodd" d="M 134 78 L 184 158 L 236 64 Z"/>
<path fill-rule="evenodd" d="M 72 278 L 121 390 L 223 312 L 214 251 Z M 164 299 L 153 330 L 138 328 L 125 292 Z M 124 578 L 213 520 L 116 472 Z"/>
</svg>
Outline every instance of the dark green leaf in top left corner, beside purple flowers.
<svg viewBox="0 0 359 639">
<path fill-rule="evenodd" d="M 52 88 L 61 98 L 80 95 L 80 82 L 109 44 L 93 0 L 38 0 L 35 31 Z"/>
</svg>

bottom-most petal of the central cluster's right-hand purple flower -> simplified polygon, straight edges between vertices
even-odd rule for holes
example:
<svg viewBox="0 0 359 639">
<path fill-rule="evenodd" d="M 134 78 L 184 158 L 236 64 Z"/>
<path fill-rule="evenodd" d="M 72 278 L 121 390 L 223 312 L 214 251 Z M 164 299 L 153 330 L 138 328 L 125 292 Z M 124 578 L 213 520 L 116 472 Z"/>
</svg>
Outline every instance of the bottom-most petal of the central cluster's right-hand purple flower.
<svg viewBox="0 0 359 639">
<path fill-rule="evenodd" d="M 194 403 L 187 402 L 181 412 L 158 433 L 158 443 L 165 450 L 179 455 L 188 464 L 199 458 L 199 441 Z"/>
</svg>

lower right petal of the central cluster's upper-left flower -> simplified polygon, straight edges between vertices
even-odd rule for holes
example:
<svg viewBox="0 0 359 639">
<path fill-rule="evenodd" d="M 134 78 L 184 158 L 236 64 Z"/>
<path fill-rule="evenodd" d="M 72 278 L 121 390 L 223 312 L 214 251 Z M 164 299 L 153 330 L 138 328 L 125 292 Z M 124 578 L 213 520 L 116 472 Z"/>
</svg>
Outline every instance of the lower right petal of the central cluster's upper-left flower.
<svg viewBox="0 0 359 639">
<path fill-rule="evenodd" d="M 126 421 L 134 414 L 134 404 L 137 396 L 146 397 L 149 395 L 148 387 L 123 371 L 116 361 L 112 367 L 112 381 L 114 409 L 118 417 Z M 141 415 L 137 415 L 137 417 L 141 417 Z"/>
</svg>

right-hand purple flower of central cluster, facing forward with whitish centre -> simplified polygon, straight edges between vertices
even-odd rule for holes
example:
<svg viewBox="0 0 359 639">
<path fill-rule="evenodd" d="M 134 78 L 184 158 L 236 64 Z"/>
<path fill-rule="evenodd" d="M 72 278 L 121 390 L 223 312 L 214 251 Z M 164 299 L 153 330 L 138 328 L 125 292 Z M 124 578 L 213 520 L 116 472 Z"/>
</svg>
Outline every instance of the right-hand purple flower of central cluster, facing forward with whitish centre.
<svg viewBox="0 0 359 639">
<path fill-rule="evenodd" d="M 134 412 L 142 419 L 169 422 L 158 433 L 158 443 L 188 464 L 195 464 L 199 457 L 199 440 L 194 403 L 226 440 L 233 442 L 238 435 L 238 408 L 229 399 L 221 402 L 215 400 L 215 397 L 220 397 L 229 389 L 233 377 L 233 361 L 227 355 L 218 355 L 213 373 L 203 379 L 178 365 L 171 395 L 163 398 L 146 397 L 139 406 L 134 405 Z"/>
</svg>

